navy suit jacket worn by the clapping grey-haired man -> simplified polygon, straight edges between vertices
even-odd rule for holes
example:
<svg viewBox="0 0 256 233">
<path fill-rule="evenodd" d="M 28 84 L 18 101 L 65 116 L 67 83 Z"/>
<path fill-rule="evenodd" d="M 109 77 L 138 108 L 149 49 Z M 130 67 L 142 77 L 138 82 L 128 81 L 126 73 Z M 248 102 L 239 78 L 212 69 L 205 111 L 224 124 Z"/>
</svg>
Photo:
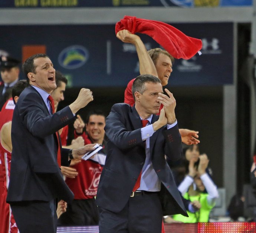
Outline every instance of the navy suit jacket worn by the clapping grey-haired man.
<svg viewBox="0 0 256 233">
<path fill-rule="evenodd" d="M 153 115 L 151 124 L 158 117 Z M 97 191 L 98 206 L 117 213 L 127 204 L 146 158 L 141 128 L 135 107 L 113 105 L 106 118 L 107 155 Z M 163 126 L 150 137 L 152 165 L 162 183 L 160 199 L 164 215 L 181 213 L 187 216 L 171 169 L 165 161 L 165 155 L 177 160 L 181 154 L 181 136 L 177 125 L 171 129 Z"/>
</svg>

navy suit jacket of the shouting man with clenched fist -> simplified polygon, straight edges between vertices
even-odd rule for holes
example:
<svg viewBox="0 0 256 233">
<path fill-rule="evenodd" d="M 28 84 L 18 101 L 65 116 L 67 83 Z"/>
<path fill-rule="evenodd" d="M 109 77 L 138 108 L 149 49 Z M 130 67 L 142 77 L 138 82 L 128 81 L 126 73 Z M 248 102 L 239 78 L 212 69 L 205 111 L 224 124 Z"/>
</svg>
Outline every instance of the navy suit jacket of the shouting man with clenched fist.
<svg viewBox="0 0 256 233">
<path fill-rule="evenodd" d="M 25 88 L 12 119 L 12 160 L 7 202 L 73 200 L 57 163 L 56 133 L 74 118 L 69 107 L 50 115 L 35 88 Z M 68 150 L 62 149 L 62 165 L 68 166 Z"/>
</svg>

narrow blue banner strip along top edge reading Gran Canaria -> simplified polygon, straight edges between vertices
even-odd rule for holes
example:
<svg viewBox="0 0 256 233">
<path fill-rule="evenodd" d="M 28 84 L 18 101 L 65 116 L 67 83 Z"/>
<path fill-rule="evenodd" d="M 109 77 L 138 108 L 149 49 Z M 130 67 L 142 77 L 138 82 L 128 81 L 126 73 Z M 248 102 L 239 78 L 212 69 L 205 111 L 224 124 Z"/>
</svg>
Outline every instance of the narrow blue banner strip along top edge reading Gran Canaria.
<svg viewBox="0 0 256 233">
<path fill-rule="evenodd" d="M 221 7 L 252 6 L 252 0 L 1 0 L 0 7 Z"/>
</svg>

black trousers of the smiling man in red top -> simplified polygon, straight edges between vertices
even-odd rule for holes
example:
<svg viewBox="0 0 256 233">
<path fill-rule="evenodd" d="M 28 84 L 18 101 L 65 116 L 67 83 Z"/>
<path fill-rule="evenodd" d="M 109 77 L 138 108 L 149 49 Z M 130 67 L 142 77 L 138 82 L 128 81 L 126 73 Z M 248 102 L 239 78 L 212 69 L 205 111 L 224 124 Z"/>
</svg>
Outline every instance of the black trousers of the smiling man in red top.
<svg viewBox="0 0 256 233">
<path fill-rule="evenodd" d="M 60 215 L 58 226 L 92 226 L 99 224 L 95 199 L 73 200 L 67 211 Z"/>
</svg>

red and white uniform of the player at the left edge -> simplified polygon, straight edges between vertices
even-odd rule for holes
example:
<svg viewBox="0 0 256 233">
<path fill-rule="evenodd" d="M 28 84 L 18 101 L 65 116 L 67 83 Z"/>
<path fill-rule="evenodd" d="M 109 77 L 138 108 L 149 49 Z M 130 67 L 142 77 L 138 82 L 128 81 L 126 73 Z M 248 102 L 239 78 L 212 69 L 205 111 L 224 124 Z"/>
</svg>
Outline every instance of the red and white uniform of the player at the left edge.
<svg viewBox="0 0 256 233">
<path fill-rule="evenodd" d="M 12 121 L 14 110 L 13 99 L 10 98 L 3 105 L 0 112 L 0 129 L 9 121 Z M 0 143 L 0 161 L 1 161 L 1 182 L 0 182 L 0 230 L 1 233 L 18 233 L 19 230 L 14 221 L 10 205 L 6 203 L 7 189 L 10 178 L 10 165 L 11 165 L 12 153 L 7 151 Z"/>
</svg>

